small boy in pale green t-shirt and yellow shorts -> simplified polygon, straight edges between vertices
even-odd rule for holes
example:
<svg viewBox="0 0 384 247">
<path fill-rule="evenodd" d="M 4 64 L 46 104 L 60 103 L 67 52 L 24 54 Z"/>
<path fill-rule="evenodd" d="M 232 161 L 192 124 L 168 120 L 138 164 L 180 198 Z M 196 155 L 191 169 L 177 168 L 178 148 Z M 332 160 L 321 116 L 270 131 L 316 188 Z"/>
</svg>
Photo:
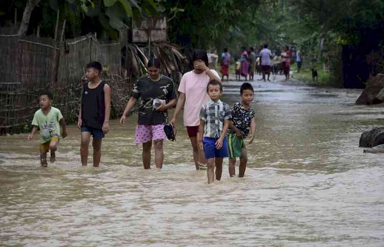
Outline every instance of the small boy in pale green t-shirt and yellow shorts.
<svg viewBox="0 0 384 247">
<path fill-rule="evenodd" d="M 40 163 L 47 166 L 47 152 L 51 150 L 50 162 L 56 160 L 57 143 L 60 137 L 60 125 L 62 128 L 61 137 L 67 137 L 66 121 L 59 109 L 52 107 L 53 96 L 50 92 L 40 94 L 40 109 L 33 116 L 33 129 L 28 139 L 31 140 L 37 130 L 40 130 Z"/>
</svg>

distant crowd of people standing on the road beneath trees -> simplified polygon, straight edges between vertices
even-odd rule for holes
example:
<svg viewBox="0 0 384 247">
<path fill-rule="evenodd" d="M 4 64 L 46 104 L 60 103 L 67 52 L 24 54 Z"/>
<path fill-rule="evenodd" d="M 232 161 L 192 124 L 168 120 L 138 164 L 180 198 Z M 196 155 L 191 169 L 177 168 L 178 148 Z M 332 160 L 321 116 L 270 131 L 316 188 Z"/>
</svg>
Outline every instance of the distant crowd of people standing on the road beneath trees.
<svg viewBox="0 0 384 247">
<path fill-rule="evenodd" d="M 258 50 L 250 47 L 248 50 L 242 47 L 242 53 L 238 57 L 234 58 L 234 74 L 236 80 L 253 81 L 255 74 L 261 74 L 262 78 L 259 80 L 270 81 L 271 65 L 272 61 L 274 64 L 278 64 L 278 69 L 284 73 L 286 80 L 290 79 L 290 66 L 293 62 L 297 63 L 297 73 L 300 72 L 303 57 L 299 50 L 294 47 L 289 48 L 288 46 L 282 49 L 281 52 L 268 49 L 268 44 L 260 46 Z M 221 80 L 224 81 L 227 77 L 229 80 L 229 65 L 230 65 L 230 54 L 228 49 L 225 48 L 221 55 L 220 73 L 222 74 Z"/>
</svg>

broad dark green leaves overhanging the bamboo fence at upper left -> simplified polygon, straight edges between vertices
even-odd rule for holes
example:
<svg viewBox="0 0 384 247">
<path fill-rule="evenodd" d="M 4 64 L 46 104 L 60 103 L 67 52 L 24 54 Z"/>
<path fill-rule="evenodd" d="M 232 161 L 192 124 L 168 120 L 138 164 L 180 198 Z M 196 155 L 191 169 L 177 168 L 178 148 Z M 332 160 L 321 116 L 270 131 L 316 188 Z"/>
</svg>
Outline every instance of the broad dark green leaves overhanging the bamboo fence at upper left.
<svg viewBox="0 0 384 247">
<path fill-rule="evenodd" d="M 161 1 L 160 1 L 161 2 Z M 13 9 L 24 11 L 27 0 L 14 0 L 0 4 L 2 18 L 13 19 Z M 40 27 L 41 36 L 53 37 L 57 11 L 60 23 L 67 20 L 66 37 L 73 38 L 87 32 L 96 32 L 99 37 L 118 39 L 118 30 L 131 25 L 131 17 L 158 14 L 160 3 L 154 0 L 42 0 L 32 12 L 29 34 Z M 7 10 L 7 12 L 3 12 Z M 52 11 L 53 10 L 53 11 Z M 21 19 L 19 15 L 18 19 Z M 84 29 L 84 27 L 87 27 Z"/>
</svg>

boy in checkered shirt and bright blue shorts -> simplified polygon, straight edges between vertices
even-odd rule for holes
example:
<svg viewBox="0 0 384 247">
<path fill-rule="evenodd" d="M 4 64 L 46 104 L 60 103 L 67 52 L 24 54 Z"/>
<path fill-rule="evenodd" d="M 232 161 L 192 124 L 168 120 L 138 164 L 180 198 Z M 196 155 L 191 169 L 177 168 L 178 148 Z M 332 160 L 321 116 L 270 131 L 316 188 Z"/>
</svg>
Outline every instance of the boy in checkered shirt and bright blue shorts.
<svg viewBox="0 0 384 247">
<path fill-rule="evenodd" d="M 207 159 L 208 184 L 215 181 L 215 166 L 216 180 L 221 179 L 223 158 L 228 157 L 225 134 L 231 115 L 229 105 L 220 100 L 222 92 L 223 85 L 221 82 L 209 81 L 207 93 L 210 100 L 200 109 L 199 131 L 204 134 L 198 135 L 198 144 L 200 150 L 204 151 L 205 159 Z"/>
</svg>

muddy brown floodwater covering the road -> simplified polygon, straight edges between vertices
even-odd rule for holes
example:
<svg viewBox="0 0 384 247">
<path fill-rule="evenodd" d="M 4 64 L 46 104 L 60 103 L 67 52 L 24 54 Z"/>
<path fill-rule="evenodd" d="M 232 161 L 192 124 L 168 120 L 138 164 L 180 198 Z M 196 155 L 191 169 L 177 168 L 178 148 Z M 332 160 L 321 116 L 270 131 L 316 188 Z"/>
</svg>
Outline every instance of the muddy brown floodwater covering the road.
<svg viewBox="0 0 384 247">
<path fill-rule="evenodd" d="M 241 84 L 224 82 L 222 100 L 237 101 Z M 252 85 L 246 177 L 230 178 L 226 159 L 212 185 L 195 170 L 181 116 L 162 170 L 154 154 L 142 168 L 137 116 L 112 120 L 98 169 L 81 167 L 76 126 L 48 168 L 38 138 L 0 137 L 1 245 L 382 246 L 384 158 L 358 140 L 382 125 L 383 108 L 354 105 L 360 90 Z"/>
</svg>

